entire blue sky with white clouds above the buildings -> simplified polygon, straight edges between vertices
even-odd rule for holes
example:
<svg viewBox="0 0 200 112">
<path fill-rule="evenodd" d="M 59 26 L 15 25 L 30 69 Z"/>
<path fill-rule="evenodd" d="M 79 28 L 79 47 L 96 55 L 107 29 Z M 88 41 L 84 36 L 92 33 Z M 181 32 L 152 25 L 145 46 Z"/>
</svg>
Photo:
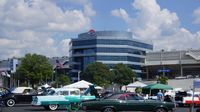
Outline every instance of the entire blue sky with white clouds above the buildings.
<svg viewBox="0 0 200 112">
<path fill-rule="evenodd" d="M 200 0 L 0 0 L 0 60 L 68 56 L 90 29 L 130 31 L 154 51 L 200 49 Z"/>
</svg>

